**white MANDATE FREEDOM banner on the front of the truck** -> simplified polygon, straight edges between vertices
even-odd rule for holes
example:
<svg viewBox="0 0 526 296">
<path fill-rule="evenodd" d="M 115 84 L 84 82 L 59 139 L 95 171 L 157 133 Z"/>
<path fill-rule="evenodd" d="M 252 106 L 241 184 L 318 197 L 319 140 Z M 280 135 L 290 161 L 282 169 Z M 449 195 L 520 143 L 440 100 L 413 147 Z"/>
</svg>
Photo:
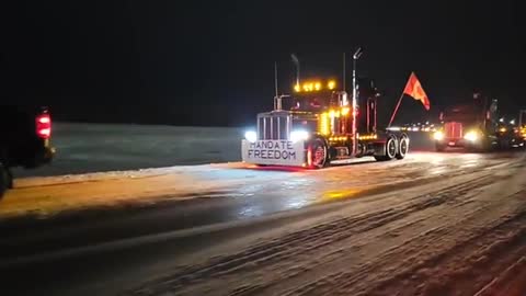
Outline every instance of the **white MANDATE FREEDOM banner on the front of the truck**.
<svg viewBox="0 0 526 296">
<path fill-rule="evenodd" d="M 241 156 L 244 162 L 301 167 L 305 161 L 304 141 L 291 140 L 242 140 Z"/>
</svg>

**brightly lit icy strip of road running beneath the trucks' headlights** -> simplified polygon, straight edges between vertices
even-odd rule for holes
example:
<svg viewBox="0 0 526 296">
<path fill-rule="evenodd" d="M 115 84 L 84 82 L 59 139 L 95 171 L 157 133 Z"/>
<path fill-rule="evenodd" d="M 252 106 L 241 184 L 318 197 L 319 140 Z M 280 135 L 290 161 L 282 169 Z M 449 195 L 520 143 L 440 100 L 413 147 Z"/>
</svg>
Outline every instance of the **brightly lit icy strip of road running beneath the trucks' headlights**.
<svg viewBox="0 0 526 296">
<path fill-rule="evenodd" d="M 413 152 L 403 161 L 363 158 L 321 171 L 232 162 L 26 178 L 15 180 L 15 189 L 2 201 L 0 218 L 222 196 L 243 204 L 235 216 L 251 217 L 351 197 L 379 185 L 464 174 L 505 163 L 508 157 L 513 156 Z"/>
</svg>

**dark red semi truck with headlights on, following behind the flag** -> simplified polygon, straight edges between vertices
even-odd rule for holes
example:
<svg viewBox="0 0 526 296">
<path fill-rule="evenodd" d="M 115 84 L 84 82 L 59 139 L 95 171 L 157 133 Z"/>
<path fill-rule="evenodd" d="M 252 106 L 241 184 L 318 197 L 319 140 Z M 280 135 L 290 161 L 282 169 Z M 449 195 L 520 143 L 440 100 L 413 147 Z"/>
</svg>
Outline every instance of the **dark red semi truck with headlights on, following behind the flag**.
<svg viewBox="0 0 526 296">
<path fill-rule="evenodd" d="M 468 151 L 489 151 L 524 147 L 521 127 L 499 118 L 498 100 L 474 95 L 472 100 L 446 107 L 441 113 L 441 128 L 433 138 L 437 151 L 461 147 Z"/>
</svg>

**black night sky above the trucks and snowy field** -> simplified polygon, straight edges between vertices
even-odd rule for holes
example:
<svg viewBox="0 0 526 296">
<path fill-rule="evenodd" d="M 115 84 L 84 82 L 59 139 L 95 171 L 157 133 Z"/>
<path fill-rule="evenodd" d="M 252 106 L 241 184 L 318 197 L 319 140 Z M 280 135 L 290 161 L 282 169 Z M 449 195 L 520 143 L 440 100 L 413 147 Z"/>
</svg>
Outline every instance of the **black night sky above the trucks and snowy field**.
<svg viewBox="0 0 526 296">
<path fill-rule="evenodd" d="M 10 2 L 0 100 L 60 121 L 245 126 L 272 107 L 274 61 L 289 92 L 291 53 L 305 76 L 340 78 L 358 46 L 382 121 L 412 70 L 434 112 L 473 91 L 526 107 L 518 1 Z M 404 99 L 400 118 L 425 118 L 419 104 Z"/>
</svg>

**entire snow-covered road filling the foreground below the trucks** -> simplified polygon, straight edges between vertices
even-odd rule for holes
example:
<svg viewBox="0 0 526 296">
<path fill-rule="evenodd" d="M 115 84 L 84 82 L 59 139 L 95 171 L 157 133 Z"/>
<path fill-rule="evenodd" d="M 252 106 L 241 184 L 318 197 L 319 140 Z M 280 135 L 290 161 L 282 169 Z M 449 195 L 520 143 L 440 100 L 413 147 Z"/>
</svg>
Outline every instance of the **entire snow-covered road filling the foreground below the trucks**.
<svg viewBox="0 0 526 296">
<path fill-rule="evenodd" d="M 49 295 L 523 295 L 525 170 L 522 151 L 413 152 L 23 179 L 0 272 Z"/>
</svg>

